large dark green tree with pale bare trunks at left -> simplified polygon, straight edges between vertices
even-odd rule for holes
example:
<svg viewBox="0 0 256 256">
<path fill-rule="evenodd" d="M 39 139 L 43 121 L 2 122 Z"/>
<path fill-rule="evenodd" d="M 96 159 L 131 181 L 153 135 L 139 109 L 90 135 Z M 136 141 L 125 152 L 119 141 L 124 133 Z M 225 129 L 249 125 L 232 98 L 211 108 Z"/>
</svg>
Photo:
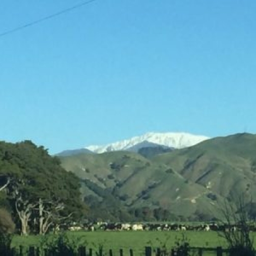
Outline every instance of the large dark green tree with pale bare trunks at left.
<svg viewBox="0 0 256 256">
<path fill-rule="evenodd" d="M 77 218 L 84 210 L 79 179 L 30 140 L 0 142 L 0 188 L 20 221 L 22 235 L 29 229 L 44 234 L 51 225 Z"/>
</svg>

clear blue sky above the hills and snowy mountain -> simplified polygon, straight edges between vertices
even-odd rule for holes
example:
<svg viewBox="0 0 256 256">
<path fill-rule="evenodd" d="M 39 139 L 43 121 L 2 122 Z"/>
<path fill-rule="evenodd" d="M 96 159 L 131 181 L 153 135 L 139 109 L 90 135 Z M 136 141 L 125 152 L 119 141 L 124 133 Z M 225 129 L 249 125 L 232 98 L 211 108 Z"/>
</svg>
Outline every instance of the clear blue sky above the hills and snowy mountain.
<svg viewBox="0 0 256 256">
<path fill-rule="evenodd" d="M 1 0 L 0 33 L 81 2 Z M 0 140 L 256 133 L 255 0 L 96 0 L 0 37 Z"/>
</svg>

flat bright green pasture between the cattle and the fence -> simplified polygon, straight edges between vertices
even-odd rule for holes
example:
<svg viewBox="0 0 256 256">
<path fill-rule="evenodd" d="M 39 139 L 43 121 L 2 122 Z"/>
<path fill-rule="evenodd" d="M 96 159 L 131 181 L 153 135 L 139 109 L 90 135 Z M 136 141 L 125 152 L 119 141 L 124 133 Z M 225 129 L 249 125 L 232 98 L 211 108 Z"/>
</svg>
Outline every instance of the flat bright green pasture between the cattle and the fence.
<svg viewBox="0 0 256 256">
<path fill-rule="evenodd" d="M 226 247 L 226 243 L 216 232 L 205 231 L 185 231 L 183 232 L 188 239 L 190 246 L 193 247 Z M 134 255 L 144 255 L 145 247 L 162 247 L 166 244 L 167 247 L 175 245 L 175 241 L 182 238 L 182 232 L 175 231 L 97 231 L 97 232 L 68 232 L 67 236 L 75 244 L 84 245 L 88 248 L 97 250 L 100 245 L 104 251 L 113 250 L 114 255 L 117 255 L 120 248 L 123 248 L 124 255 L 128 255 L 130 248 L 133 249 Z M 39 246 L 42 237 L 15 236 L 12 246 Z"/>
</svg>

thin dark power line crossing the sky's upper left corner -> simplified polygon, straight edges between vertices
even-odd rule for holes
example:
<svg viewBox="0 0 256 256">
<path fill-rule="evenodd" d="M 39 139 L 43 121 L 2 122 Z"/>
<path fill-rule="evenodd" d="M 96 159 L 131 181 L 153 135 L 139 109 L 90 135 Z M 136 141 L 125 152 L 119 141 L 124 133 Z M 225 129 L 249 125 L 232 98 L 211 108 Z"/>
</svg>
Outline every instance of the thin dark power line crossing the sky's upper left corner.
<svg viewBox="0 0 256 256">
<path fill-rule="evenodd" d="M 41 22 L 43 22 L 43 21 L 45 21 L 45 20 L 54 18 L 54 17 L 56 17 L 56 16 L 62 15 L 62 14 L 67 13 L 67 12 L 70 12 L 70 11 L 72 11 L 72 10 L 74 10 L 74 9 L 77 9 L 77 8 L 80 8 L 80 7 L 84 6 L 84 5 L 89 5 L 89 4 L 91 4 L 92 2 L 95 2 L 95 1 L 96 1 L 96 0 L 89 0 L 89 1 L 86 1 L 86 2 L 83 2 L 83 3 L 80 3 L 80 4 L 78 4 L 78 5 L 69 7 L 69 8 L 67 8 L 67 9 L 64 9 L 64 10 L 62 10 L 62 11 L 60 11 L 60 12 L 53 13 L 53 14 L 51 14 L 51 15 L 49 15 L 49 16 L 44 17 L 44 18 L 41 18 L 41 19 L 32 21 L 32 22 L 27 23 L 27 24 L 25 24 L 25 25 L 15 27 L 14 29 L 11 29 L 11 30 L 8 30 L 8 31 L 6 31 L 6 32 L 1 33 L 1 34 L 0 34 L 0 37 L 3 37 L 3 36 L 6 36 L 6 35 L 15 33 L 15 32 L 17 32 L 17 31 L 19 31 L 19 30 L 23 30 L 23 29 L 25 29 L 26 27 L 29 27 L 29 26 L 34 26 L 34 25 L 36 25 L 36 24 L 38 24 L 38 23 L 41 23 Z"/>
</svg>

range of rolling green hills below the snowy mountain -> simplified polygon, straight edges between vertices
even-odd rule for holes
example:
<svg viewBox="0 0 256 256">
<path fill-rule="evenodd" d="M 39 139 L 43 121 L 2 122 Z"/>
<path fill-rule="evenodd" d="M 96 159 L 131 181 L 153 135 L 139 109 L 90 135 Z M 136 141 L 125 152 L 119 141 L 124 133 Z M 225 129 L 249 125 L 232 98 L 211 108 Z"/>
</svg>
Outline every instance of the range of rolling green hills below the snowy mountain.
<svg viewBox="0 0 256 256">
<path fill-rule="evenodd" d="M 132 212 L 166 210 L 185 219 L 219 217 L 225 197 L 256 192 L 256 136 L 235 134 L 205 140 L 195 146 L 145 158 L 135 152 L 107 152 L 62 157 L 62 165 L 80 179 L 84 196 L 107 198 Z M 160 152 L 159 152 L 160 153 Z M 254 200 L 254 198 L 252 198 Z M 153 218 L 151 213 L 149 218 Z M 146 217 L 145 217 L 146 218 Z"/>
</svg>

